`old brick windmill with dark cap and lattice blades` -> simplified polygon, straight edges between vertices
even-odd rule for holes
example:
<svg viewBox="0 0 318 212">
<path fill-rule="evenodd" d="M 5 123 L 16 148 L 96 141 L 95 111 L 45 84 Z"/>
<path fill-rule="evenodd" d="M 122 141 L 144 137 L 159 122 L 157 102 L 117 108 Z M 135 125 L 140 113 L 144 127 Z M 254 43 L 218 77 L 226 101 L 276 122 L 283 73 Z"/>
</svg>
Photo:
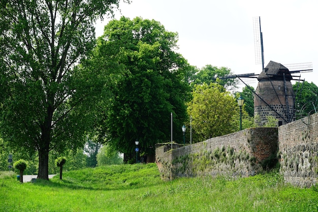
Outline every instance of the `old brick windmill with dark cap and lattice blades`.
<svg viewBox="0 0 318 212">
<path fill-rule="evenodd" d="M 266 123 L 267 116 L 275 117 L 278 120 L 278 126 L 293 122 L 295 120 L 296 95 L 291 80 L 298 78 L 299 81 L 304 81 L 300 79 L 300 76 L 293 74 L 312 72 L 312 64 L 281 65 L 270 61 L 264 67 L 263 33 L 260 17 L 253 18 L 253 26 L 256 64 L 262 64 L 262 72 L 260 74 L 231 75 L 227 78 L 239 78 L 255 94 L 254 114 L 260 117 L 260 122 L 257 124 L 262 126 Z M 259 82 L 256 91 L 241 78 L 257 78 Z M 297 92 L 301 92 L 301 88 L 297 89 Z"/>
</svg>

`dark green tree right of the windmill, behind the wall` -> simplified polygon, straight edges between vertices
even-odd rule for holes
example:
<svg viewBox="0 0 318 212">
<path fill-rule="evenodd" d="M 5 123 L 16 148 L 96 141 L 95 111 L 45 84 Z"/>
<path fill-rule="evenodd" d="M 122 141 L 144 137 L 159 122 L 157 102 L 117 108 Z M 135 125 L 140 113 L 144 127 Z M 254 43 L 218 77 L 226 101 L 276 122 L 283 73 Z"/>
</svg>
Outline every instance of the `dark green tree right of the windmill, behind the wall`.
<svg viewBox="0 0 318 212">
<path fill-rule="evenodd" d="M 318 87 L 313 82 L 303 83 L 296 82 L 293 84 L 293 89 L 296 94 L 295 109 L 296 119 L 316 113 L 318 110 Z"/>
</svg>

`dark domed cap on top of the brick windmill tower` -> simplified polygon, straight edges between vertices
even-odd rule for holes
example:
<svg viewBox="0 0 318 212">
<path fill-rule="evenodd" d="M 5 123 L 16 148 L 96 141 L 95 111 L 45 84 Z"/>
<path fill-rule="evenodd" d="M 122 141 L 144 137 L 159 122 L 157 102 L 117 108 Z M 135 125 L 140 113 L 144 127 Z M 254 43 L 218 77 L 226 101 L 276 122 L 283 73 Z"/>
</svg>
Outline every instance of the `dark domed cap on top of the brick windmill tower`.
<svg viewBox="0 0 318 212">
<path fill-rule="evenodd" d="M 258 76 L 258 80 L 282 80 L 283 74 L 285 74 L 285 80 L 291 81 L 293 79 L 288 68 L 284 67 L 280 63 L 273 62 L 272 60 L 267 64 L 262 73 Z"/>
</svg>

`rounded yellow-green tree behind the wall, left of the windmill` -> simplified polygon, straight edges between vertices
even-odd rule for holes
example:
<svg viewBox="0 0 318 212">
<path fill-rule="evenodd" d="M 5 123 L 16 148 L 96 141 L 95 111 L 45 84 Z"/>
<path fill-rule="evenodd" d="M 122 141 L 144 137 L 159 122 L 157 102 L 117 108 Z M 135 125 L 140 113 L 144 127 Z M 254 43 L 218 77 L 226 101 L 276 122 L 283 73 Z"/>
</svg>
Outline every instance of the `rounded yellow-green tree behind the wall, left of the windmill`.
<svg viewBox="0 0 318 212">
<path fill-rule="evenodd" d="M 188 104 L 197 141 L 235 132 L 238 114 L 236 99 L 216 83 L 195 85 L 193 100 Z"/>
</svg>

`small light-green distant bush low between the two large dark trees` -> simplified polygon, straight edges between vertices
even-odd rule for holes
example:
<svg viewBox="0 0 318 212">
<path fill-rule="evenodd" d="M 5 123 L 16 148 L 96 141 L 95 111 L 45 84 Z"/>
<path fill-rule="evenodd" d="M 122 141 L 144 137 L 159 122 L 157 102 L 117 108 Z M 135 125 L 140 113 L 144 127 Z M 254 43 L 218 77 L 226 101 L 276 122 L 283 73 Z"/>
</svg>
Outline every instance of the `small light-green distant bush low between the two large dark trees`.
<svg viewBox="0 0 318 212">
<path fill-rule="evenodd" d="M 122 158 L 114 148 L 106 144 L 102 146 L 100 152 L 97 154 L 97 163 L 98 166 L 121 164 Z"/>
</svg>

